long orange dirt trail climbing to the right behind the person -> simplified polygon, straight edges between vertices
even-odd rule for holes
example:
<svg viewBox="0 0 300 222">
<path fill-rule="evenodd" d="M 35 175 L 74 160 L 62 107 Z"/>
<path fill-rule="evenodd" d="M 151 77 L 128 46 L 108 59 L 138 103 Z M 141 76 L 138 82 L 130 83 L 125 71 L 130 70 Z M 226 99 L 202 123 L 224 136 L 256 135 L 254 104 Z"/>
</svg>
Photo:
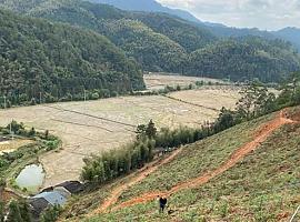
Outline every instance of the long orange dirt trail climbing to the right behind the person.
<svg viewBox="0 0 300 222">
<path fill-rule="evenodd" d="M 262 128 L 260 128 L 258 131 L 256 131 L 254 132 L 254 139 L 251 142 L 249 142 L 249 143 L 242 145 L 241 148 L 239 148 L 237 151 L 234 151 L 231 154 L 230 159 L 227 162 L 224 162 L 222 165 L 220 165 L 218 169 L 216 169 L 216 170 L 213 170 L 211 172 L 207 172 L 206 174 L 203 174 L 203 175 L 201 175 L 199 178 L 191 179 L 189 181 L 182 182 L 182 183 L 171 188 L 167 192 L 160 192 L 160 191 L 150 192 L 150 193 L 146 193 L 146 194 L 141 195 L 141 196 L 133 198 L 133 199 L 131 199 L 129 201 L 120 203 L 119 205 L 116 205 L 111 210 L 114 211 L 114 210 L 118 210 L 118 209 L 128 208 L 128 206 L 132 206 L 132 205 L 136 205 L 136 204 L 153 201 L 158 196 L 168 198 L 171 194 L 174 194 L 174 193 L 177 193 L 177 192 L 179 192 L 181 190 L 200 186 L 200 185 L 209 182 L 213 178 L 222 174 L 224 171 L 229 170 L 233 165 L 236 165 L 247 154 L 251 153 L 257 148 L 259 148 L 260 143 L 266 141 L 267 138 L 273 131 L 276 131 L 277 129 L 279 129 L 280 127 L 282 127 L 284 124 L 291 124 L 291 123 L 294 123 L 294 121 L 288 119 L 287 114 L 286 114 L 286 110 L 283 110 L 283 111 L 281 111 L 279 113 L 278 117 L 276 117 L 276 119 L 269 121 Z"/>
</svg>

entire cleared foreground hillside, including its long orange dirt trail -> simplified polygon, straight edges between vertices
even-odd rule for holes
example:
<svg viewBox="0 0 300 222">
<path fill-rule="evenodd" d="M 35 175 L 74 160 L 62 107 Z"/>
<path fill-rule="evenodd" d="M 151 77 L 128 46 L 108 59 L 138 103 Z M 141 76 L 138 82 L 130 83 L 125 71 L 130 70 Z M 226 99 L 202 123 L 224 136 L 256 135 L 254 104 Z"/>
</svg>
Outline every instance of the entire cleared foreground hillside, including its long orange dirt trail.
<svg viewBox="0 0 300 222">
<path fill-rule="evenodd" d="M 300 124 L 291 122 L 300 119 L 299 111 L 273 113 L 183 147 L 154 172 L 146 168 L 77 198 L 64 215 L 88 213 L 87 221 L 287 221 L 300 202 Z M 140 174 L 143 180 L 132 183 Z M 127 183 L 117 203 L 106 205 L 110 192 Z M 159 194 L 171 194 L 170 214 L 158 213 Z"/>
</svg>

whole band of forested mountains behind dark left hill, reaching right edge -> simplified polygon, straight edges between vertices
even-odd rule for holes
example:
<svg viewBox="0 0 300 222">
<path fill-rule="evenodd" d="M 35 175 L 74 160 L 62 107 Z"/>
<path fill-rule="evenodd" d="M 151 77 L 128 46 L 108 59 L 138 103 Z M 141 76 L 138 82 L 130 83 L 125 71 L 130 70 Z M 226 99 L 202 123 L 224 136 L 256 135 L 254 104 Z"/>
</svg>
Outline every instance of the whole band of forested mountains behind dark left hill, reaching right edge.
<svg viewBox="0 0 300 222">
<path fill-rule="evenodd" d="M 11 3 L 13 1 L 16 4 Z M 2 6 L 18 12 L 92 29 L 109 38 L 128 57 L 134 58 L 146 71 L 214 78 L 230 75 L 237 81 L 247 78 L 278 81 L 283 74 L 300 69 L 299 56 L 290 44 L 263 34 L 263 38 L 244 38 L 241 33 L 222 40 L 203 28 L 203 24 L 166 13 L 122 11 L 108 4 L 80 0 L 33 0 L 31 6 L 34 7 L 20 2 L 2 1 Z M 259 30 L 252 31 L 260 33 Z"/>
</svg>

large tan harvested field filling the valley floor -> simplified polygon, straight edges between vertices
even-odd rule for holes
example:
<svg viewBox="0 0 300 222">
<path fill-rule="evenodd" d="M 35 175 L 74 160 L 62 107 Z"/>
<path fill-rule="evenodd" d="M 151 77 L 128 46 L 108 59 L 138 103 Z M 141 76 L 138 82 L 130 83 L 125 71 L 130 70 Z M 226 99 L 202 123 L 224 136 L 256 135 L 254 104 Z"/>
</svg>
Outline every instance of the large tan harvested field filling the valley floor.
<svg viewBox="0 0 300 222">
<path fill-rule="evenodd" d="M 46 171 L 44 186 L 49 186 L 79 179 L 83 158 L 131 141 L 138 124 L 152 119 L 158 128 L 199 127 L 207 120 L 213 121 L 222 107 L 232 108 L 239 94 L 232 87 L 212 87 L 168 97 L 122 97 L 13 108 L 0 111 L 0 125 L 13 119 L 61 138 L 59 152 L 40 158 Z"/>
</svg>

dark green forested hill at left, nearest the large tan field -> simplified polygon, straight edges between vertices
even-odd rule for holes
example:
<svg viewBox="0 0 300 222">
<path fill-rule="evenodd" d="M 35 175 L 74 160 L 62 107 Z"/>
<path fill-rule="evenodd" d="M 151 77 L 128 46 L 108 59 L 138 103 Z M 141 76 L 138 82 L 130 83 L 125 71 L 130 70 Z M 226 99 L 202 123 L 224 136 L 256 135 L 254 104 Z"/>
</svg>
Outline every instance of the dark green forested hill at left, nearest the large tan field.
<svg viewBox="0 0 300 222">
<path fill-rule="evenodd" d="M 137 63 L 107 38 L 3 10 L 0 82 L 0 94 L 12 103 L 38 100 L 40 93 L 57 100 L 84 90 L 100 97 L 144 87 Z"/>
</svg>

